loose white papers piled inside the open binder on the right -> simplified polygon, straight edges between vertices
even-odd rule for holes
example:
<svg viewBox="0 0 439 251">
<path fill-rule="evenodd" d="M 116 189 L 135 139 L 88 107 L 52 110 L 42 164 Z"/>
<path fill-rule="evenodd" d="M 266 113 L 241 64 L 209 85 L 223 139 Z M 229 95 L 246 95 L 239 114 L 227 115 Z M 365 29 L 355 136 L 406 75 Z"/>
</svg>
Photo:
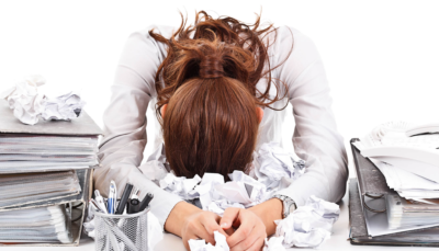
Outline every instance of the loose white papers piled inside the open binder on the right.
<svg viewBox="0 0 439 251">
<path fill-rule="evenodd" d="M 352 142 L 392 189 L 383 202 L 389 232 L 439 226 L 439 127 L 424 127 L 386 123 Z"/>
</svg>

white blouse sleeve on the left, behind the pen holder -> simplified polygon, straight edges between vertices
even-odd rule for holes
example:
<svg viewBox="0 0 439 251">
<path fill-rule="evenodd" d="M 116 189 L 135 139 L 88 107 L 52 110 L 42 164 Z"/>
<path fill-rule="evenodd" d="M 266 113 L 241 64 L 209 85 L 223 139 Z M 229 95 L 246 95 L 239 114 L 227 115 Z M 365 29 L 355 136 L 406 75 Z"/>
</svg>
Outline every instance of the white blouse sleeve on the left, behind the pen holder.
<svg viewBox="0 0 439 251">
<path fill-rule="evenodd" d="M 146 111 L 156 93 L 155 76 L 162 57 L 147 30 L 128 37 L 117 65 L 110 106 L 103 116 L 104 138 L 99 150 L 102 167 L 95 169 L 93 180 L 94 187 L 105 196 L 112 180 L 119 196 L 126 182 L 142 191 L 140 198 L 153 193 L 151 212 L 165 226 L 181 199 L 161 190 L 138 169 L 146 145 Z"/>
</svg>

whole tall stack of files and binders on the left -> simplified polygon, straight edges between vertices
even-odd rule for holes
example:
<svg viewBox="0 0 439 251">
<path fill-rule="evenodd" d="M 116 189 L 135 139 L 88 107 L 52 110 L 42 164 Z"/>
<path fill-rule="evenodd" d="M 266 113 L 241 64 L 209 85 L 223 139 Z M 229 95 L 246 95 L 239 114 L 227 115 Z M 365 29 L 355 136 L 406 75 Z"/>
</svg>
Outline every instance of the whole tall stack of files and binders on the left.
<svg viewBox="0 0 439 251">
<path fill-rule="evenodd" d="M 30 126 L 0 101 L 0 246 L 79 243 L 101 134 L 86 112 Z"/>
</svg>

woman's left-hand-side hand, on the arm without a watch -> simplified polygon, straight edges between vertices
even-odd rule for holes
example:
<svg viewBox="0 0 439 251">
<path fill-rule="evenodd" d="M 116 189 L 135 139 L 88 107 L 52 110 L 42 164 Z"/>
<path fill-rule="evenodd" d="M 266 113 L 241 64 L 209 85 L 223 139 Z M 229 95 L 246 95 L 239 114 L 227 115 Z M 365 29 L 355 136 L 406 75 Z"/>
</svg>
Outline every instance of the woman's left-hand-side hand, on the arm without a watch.
<svg viewBox="0 0 439 251">
<path fill-rule="evenodd" d="M 183 244 L 189 250 L 190 239 L 204 239 L 215 244 L 214 231 L 226 232 L 219 227 L 221 217 L 212 212 L 202 210 L 189 203 L 178 203 L 165 224 L 165 229 L 183 239 Z"/>
</svg>

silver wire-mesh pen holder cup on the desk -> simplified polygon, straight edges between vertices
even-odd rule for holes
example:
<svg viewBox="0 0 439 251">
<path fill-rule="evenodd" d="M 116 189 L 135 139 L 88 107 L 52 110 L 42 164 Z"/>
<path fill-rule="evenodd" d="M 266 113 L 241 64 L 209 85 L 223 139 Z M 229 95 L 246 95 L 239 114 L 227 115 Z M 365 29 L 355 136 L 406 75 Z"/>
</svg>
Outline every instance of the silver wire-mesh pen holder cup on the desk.
<svg viewBox="0 0 439 251">
<path fill-rule="evenodd" d="M 147 251 L 149 207 L 131 215 L 94 212 L 97 251 Z"/>
</svg>

